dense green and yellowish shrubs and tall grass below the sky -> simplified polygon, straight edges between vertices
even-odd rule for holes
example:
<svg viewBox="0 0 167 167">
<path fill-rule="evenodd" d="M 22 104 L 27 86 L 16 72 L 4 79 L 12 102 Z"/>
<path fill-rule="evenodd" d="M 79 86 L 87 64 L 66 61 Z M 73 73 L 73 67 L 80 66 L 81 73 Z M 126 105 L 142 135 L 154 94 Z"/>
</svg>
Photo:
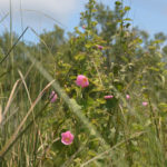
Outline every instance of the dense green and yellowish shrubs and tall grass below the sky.
<svg viewBox="0 0 167 167">
<path fill-rule="evenodd" d="M 167 37 L 132 28 L 129 10 L 89 0 L 68 38 L 30 29 L 40 42 L 19 41 L 1 61 L 0 166 L 167 166 Z M 4 32 L 1 60 L 11 43 Z"/>
</svg>

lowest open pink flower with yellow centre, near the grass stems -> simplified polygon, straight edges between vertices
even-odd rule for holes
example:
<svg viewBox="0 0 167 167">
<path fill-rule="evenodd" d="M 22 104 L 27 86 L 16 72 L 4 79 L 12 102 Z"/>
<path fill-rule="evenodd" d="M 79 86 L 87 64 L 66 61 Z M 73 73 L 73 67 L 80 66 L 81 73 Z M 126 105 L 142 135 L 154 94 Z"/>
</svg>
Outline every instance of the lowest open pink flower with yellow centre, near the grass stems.
<svg viewBox="0 0 167 167">
<path fill-rule="evenodd" d="M 66 131 L 61 134 L 61 143 L 63 145 L 71 145 L 75 136 L 70 131 Z"/>
</svg>

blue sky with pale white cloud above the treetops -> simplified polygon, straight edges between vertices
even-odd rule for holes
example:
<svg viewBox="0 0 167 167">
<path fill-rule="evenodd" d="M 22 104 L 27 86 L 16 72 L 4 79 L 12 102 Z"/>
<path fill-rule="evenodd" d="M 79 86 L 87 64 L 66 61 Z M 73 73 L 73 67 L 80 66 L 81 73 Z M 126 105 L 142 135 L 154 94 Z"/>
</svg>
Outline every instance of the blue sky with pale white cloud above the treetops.
<svg viewBox="0 0 167 167">
<path fill-rule="evenodd" d="M 9 12 L 9 1 L 0 0 L 0 20 Z M 97 0 L 114 8 L 115 0 Z M 78 26 L 80 12 L 88 0 L 11 0 L 13 30 L 21 33 L 21 18 L 23 28 L 32 27 L 38 33 L 43 29 L 51 30 L 55 20 L 63 24 L 63 29 L 72 31 Z M 163 31 L 167 35 L 167 0 L 124 0 L 130 6 L 129 17 L 132 26 L 148 31 L 150 35 Z M 9 29 L 9 17 L 0 22 L 0 31 Z M 29 41 L 37 41 L 32 32 L 24 37 Z"/>
</svg>

